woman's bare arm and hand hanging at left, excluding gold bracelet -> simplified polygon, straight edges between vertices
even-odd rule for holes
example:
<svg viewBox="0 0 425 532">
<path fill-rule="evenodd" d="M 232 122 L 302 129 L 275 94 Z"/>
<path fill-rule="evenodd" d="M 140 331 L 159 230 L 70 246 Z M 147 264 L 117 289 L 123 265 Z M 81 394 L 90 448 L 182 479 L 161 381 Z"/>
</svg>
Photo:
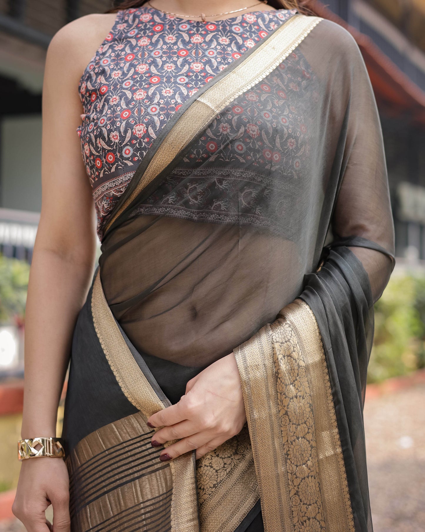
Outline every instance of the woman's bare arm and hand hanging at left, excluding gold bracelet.
<svg viewBox="0 0 425 532">
<path fill-rule="evenodd" d="M 56 412 L 72 332 L 87 296 L 96 251 L 95 210 L 81 156 L 79 78 L 108 34 L 114 15 L 89 15 L 62 28 L 49 46 L 43 92 L 41 218 L 25 315 L 22 438 L 55 436 Z M 22 463 L 13 511 L 28 532 L 69 530 L 63 460 Z"/>
</svg>

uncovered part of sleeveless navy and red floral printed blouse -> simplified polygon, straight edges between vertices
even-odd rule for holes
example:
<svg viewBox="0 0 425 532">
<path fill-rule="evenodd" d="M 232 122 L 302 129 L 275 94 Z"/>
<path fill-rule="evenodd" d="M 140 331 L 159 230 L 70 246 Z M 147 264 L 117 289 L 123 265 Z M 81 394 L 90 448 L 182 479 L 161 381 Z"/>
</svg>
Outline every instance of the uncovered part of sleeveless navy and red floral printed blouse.
<svg viewBox="0 0 425 532">
<path fill-rule="evenodd" d="M 79 84 L 78 128 L 98 234 L 143 156 L 179 107 L 294 11 L 257 11 L 216 22 L 152 7 L 117 13 Z"/>
</svg>

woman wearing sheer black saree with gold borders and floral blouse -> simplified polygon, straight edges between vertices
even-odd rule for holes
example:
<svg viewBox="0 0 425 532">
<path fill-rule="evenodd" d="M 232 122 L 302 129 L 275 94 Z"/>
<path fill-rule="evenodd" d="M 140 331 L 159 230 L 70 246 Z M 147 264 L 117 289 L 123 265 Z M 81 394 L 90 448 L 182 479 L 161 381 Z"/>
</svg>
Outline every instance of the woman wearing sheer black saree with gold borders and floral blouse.
<svg viewBox="0 0 425 532">
<path fill-rule="evenodd" d="M 49 502 L 55 532 L 372 530 L 376 104 L 344 29 L 252 4 L 128 0 L 49 48 L 22 458 L 71 366 L 66 463 L 22 464 L 29 532 Z"/>
</svg>

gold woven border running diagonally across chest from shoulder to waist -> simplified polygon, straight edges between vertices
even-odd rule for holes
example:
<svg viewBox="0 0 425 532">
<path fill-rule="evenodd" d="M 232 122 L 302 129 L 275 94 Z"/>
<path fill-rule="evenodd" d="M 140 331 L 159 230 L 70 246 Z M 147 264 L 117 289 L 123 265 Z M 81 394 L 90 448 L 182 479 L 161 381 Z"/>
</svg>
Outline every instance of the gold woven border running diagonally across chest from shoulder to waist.
<svg viewBox="0 0 425 532">
<path fill-rule="evenodd" d="M 180 117 L 158 147 L 138 185 L 109 220 L 105 231 L 125 211 L 140 192 L 164 170 L 182 149 L 203 131 L 215 115 L 237 97 L 272 72 L 307 37 L 322 19 L 318 16 L 294 15 L 276 29 L 264 43 L 227 76 L 215 82 Z"/>
</svg>

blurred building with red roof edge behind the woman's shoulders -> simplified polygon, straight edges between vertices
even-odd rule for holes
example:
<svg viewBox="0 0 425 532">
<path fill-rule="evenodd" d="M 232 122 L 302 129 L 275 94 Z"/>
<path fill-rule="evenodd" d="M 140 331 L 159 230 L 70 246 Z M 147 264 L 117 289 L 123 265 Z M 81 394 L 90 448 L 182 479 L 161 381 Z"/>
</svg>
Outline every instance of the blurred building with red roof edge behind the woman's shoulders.
<svg viewBox="0 0 425 532">
<path fill-rule="evenodd" d="M 0 250 L 6 256 L 31 258 L 28 227 L 36 218 L 3 209 L 40 211 L 41 88 L 49 41 L 65 23 L 111 4 L 0 0 Z M 326 7 L 312 0 L 310 8 L 349 29 L 361 48 L 383 126 L 396 255 L 425 261 L 425 0 L 329 0 Z"/>
</svg>

